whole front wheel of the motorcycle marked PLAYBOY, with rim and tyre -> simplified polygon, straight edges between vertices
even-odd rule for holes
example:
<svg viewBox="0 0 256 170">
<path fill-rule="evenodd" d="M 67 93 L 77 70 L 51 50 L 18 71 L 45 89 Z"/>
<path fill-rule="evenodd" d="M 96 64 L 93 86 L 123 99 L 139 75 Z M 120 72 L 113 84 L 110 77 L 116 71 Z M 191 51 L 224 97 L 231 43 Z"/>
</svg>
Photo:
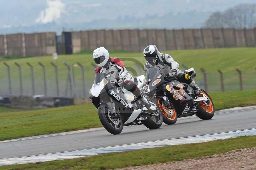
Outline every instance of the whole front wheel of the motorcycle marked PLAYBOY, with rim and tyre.
<svg viewBox="0 0 256 170">
<path fill-rule="evenodd" d="M 117 114 L 117 113 L 116 113 Z M 98 115 L 103 127 L 113 135 L 120 134 L 123 130 L 123 121 L 107 109 L 106 104 L 100 104 Z"/>
</svg>

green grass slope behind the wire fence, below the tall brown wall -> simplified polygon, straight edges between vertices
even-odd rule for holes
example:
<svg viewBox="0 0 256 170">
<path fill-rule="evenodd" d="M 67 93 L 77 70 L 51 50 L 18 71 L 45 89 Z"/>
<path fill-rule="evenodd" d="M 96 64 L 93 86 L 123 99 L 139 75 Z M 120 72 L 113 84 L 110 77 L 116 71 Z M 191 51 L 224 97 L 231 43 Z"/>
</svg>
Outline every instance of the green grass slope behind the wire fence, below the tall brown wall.
<svg viewBox="0 0 256 170">
<path fill-rule="evenodd" d="M 177 51 L 164 51 L 172 55 L 174 60 L 180 64 L 180 69 L 183 70 L 182 64 L 186 65 L 188 68 L 194 67 L 198 72 L 197 77 L 195 78 L 196 82 L 199 83 L 203 81 L 202 73 L 200 73 L 200 68 L 204 68 L 208 73 L 208 84 L 209 91 L 220 91 L 220 75 L 217 72 L 220 69 L 224 73 L 224 84 L 226 85 L 226 91 L 239 90 L 239 81 L 236 68 L 240 69 L 244 74 L 244 89 L 253 89 L 256 83 L 256 74 L 255 74 L 255 53 L 256 48 L 221 48 L 221 49 L 199 49 L 199 50 L 177 50 Z M 140 61 L 140 63 L 145 64 L 145 59 L 142 53 L 130 53 L 130 52 L 118 52 L 114 51 L 110 53 L 112 57 L 121 57 L 121 58 L 132 58 Z M 85 67 L 85 79 L 92 81 L 94 80 L 94 67 L 91 63 L 94 63 L 92 59 L 91 52 L 80 52 L 72 55 L 59 55 L 58 60 L 52 60 L 52 56 L 44 57 L 30 57 L 30 58 L 11 58 L 5 59 L 1 58 L 0 60 L 0 77 L 4 80 L 7 78 L 7 69 L 3 65 L 3 60 L 11 66 L 11 76 L 12 79 L 18 80 L 18 67 L 14 65 L 15 62 L 19 63 L 22 66 L 22 77 L 23 79 L 30 79 L 31 72 L 30 67 L 26 64 L 29 62 L 34 66 L 35 72 L 35 81 L 36 87 L 42 86 L 43 72 L 42 67 L 38 65 L 38 62 L 41 62 L 46 67 L 46 77 L 50 82 L 48 83 L 49 88 L 55 88 L 55 75 L 54 67 L 50 62 L 55 63 L 59 67 L 59 79 L 60 86 L 66 86 L 67 78 L 67 69 L 63 65 L 63 62 L 67 62 L 69 65 L 74 65 L 77 62 L 80 62 Z M 129 59 L 128 59 L 129 60 Z M 138 72 L 138 68 L 134 65 L 133 61 L 124 60 L 125 66 L 131 67 Z M 131 69 L 128 68 L 128 70 Z M 250 74 L 248 74 L 250 73 Z M 74 66 L 74 74 L 76 80 L 81 79 L 81 70 L 78 66 Z M 63 83 L 61 83 L 63 81 Z M 24 81 L 26 83 L 27 81 Z M 7 81 L 4 86 L 7 86 Z M 30 86 L 30 81 L 25 86 Z M 88 87 L 91 84 L 87 84 Z M 19 88 L 19 83 L 13 85 L 14 88 Z M 6 88 L 6 87 L 5 87 Z"/>
</svg>

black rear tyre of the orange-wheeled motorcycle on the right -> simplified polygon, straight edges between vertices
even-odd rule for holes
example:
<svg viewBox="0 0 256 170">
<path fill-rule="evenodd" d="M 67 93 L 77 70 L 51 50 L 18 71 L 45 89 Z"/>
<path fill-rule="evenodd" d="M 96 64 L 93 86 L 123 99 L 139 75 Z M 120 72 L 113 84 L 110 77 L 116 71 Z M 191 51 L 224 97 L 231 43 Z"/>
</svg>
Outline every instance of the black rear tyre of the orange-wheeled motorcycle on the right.
<svg viewBox="0 0 256 170">
<path fill-rule="evenodd" d="M 215 113 L 214 104 L 212 102 L 211 97 L 204 90 L 201 89 L 201 91 L 202 91 L 201 93 L 204 93 L 204 95 L 210 100 L 211 107 L 209 107 L 209 110 L 208 110 L 208 107 L 205 107 L 207 109 L 205 110 L 205 108 L 203 108 L 202 105 L 198 105 L 197 109 L 199 109 L 199 111 L 196 112 L 196 116 L 203 120 L 212 119 Z"/>
</svg>

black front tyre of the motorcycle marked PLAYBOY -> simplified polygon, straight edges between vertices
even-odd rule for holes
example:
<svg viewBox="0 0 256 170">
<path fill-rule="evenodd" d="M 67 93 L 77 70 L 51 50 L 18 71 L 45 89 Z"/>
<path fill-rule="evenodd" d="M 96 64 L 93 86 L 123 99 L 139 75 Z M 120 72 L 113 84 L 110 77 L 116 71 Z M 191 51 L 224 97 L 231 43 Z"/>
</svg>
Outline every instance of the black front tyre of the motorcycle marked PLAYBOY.
<svg viewBox="0 0 256 170">
<path fill-rule="evenodd" d="M 106 107 L 107 107 L 106 104 L 100 104 L 100 106 L 98 107 L 98 115 L 99 115 L 101 124 L 109 133 L 112 133 L 113 135 L 120 134 L 123 130 L 122 119 L 119 119 L 119 124 L 117 128 L 113 127 L 112 125 L 114 124 L 111 122 L 111 120 L 108 117 L 108 109 L 105 109 Z"/>
</svg>

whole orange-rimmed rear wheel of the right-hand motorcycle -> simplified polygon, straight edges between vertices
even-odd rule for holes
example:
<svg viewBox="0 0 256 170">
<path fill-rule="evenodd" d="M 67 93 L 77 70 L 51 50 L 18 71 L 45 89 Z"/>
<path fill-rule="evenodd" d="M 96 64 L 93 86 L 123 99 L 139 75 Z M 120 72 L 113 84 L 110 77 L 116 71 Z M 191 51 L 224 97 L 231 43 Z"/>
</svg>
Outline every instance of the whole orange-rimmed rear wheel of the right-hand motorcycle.
<svg viewBox="0 0 256 170">
<path fill-rule="evenodd" d="M 197 106 L 198 111 L 196 112 L 196 116 L 203 120 L 212 119 L 212 117 L 214 116 L 215 107 L 211 97 L 204 90 L 201 90 L 201 93 L 198 96 L 207 97 L 208 101 L 199 102 L 199 105 Z"/>
</svg>

